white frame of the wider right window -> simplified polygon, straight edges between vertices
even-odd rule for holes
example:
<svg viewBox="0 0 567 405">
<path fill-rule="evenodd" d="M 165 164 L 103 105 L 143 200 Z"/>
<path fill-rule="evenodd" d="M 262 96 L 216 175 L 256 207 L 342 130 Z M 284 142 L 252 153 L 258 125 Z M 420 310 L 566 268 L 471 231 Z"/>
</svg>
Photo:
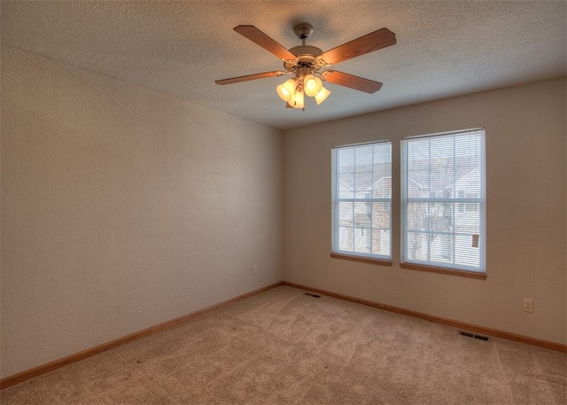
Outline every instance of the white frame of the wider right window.
<svg viewBox="0 0 567 405">
<path fill-rule="evenodd" d="M 441 136 L 463 136 L 465 134 L 471 134 L 478 132 L 480 136 L 480 195 L 477 198 L 462 198 L 458 194 L 457 195 L 450 195 L 449 192 L 448 196 L 444 195 L 439 198 L 439 196 L 429 196 L 426 198 L 409 198 L 408 197 L 408 143 L 415 139 L 423 139 L 426 137 L 433 138 L 433 137 L 441 137 Z M 423 267 L 432 267 L 432 268 L 439 268 L 439 269 L 449 269 L 449 270 L 457 270 L 463 272 L 472 272 L 472 273 L 480 273 L 485 274 L 486 266 L 485 266 L 485 251 L 486 251 L 486 230 L 485 230 L 485 218 L 486 218 L 486 179 L 485 179 L 485 129 L 467 129 L 462 131 L 454 131 L 454 132 L 444 132 L 439 134 L 431 134 L 431 135 L 424 135 L 424 136 L 411 136 L 406 137 L 401 140 L 401 265 L 403 267 L 404 264 L 408 263 L 410 265 L 417 265 Z M 453 189 L 453 194 L 455 194 L 455 187 Z M 431 191 L 430 191 L 431 193 Z M 478 243 L 478 266 L 470 266 L 464 264 L 457 264 L 457 263 L 447 263 L 445 261 L 435 261 L 431 260 L 431 253 L 429 249 L 431 247 L 428 246 L 428 253 L 427 256 L 430 257 L 429 260 L 416 260 L 411 259 L 408 257 L 408 204 L 409 203 L 416 203 L 416 202 L 423 202 L 423 203 L 443 203 L 452 206 L 453 216 L 451 218 L 452 221 L 455 220 L 454 213 L 458 213 L 460 208 L 463 206 L 467 206 L 468 204 L 478 204 L 478 237 L 476 242 Z M 466 211 L 466 208 L 464 208 Z M 425 232 L 427 233 L 427 232 Z M 431 234 L 433 232 L 430 232 Z M 453 230 L 451 232 L 447 232 L 447 238 L 452 238 L 452 245 L 454 246 L 455 235 L 458 234 Z M 475 237 L 471 235 L 471 243 L 474 244 Z M 454 261 L 454 257 L 451 259 Z"/>
</svg>

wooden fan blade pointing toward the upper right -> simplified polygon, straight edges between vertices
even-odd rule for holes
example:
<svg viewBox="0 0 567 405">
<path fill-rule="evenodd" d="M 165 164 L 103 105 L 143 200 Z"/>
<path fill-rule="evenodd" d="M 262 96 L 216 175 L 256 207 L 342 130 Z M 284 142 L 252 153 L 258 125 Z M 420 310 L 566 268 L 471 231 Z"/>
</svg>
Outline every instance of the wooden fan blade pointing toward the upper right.
<svg viewBox="0 0 567 405">
<path fill-rule="evenodd" d="M 388 28 L 381 28 L 349 43 L 343 43 L 330 51 L 323 52 L 319 59 L 327 65 L 334 65 L 346 59 L 356 58 L 365 53 L 392 46 L 395 43 L 396 35 Z"/>
</svg>

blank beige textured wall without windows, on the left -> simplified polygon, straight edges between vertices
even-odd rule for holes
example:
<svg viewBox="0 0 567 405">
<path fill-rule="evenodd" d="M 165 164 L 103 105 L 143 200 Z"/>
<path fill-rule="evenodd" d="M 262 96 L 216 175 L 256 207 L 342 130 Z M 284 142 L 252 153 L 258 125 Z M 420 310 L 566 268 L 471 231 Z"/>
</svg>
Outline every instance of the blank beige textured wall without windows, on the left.
<svg viewBox="0 0 567 405">
<path fill-rule="evenodd" d="M 3 64 L 2 377 L 283 279 L 280 131 Z"/>
</svg>

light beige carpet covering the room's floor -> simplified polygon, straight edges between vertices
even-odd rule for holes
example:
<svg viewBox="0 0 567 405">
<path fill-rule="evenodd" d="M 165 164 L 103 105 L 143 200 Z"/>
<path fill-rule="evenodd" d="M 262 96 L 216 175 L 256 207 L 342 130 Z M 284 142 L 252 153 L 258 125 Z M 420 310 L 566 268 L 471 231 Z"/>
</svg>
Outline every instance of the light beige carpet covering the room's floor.
<svg viewBox="0 0 567 405">
<path fill-rule="evenodd" d="M 7 404 L 565 404 L 567 355 L 278 287 L 1 392 Z"/>
</svg>

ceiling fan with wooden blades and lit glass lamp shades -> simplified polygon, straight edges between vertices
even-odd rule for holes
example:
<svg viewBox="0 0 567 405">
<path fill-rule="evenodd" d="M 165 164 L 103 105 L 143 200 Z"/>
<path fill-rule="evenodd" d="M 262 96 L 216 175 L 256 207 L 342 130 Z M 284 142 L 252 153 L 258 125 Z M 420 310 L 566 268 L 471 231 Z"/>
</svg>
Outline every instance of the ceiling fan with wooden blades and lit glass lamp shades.
<svg viewBox="0 0 567 405">
<path fill-rule="evenodd" d="M 375 82 L 336 70 L 322 70 L 322 68 L 392 46 L 396 43 L 396 35 L 387 28 L 381 28 L 348 43 L 343 43 L 330 51 L 323 52 L 315 46 L 306 44 L 307 38 L 313 34 L 313 27 L 310 24 L 302 23 L 293 28 L 295 35 L 301 40 L 301 45 L 287 50 L 257 27 L 241 25 L 234 27 L 234 30 L 282 59 L 285 70 L 231 77 L 229 79 L 217 80 L 215 83 L 231 84 L 282 76 L 283 74 L 293 74 L 291 79 L 277 86 L 276 91 L 278 96 L 286 102 L 286 107 L 300 109 L 305 109 L 304 95 L 315 97 L 317 105 L 320 105 L 329 97 L 330 91 L 322 86 L 322 81 L 346 86 L 369 94 L 380 90 L 382 87 L 381 82 Z"/>
</svg>

